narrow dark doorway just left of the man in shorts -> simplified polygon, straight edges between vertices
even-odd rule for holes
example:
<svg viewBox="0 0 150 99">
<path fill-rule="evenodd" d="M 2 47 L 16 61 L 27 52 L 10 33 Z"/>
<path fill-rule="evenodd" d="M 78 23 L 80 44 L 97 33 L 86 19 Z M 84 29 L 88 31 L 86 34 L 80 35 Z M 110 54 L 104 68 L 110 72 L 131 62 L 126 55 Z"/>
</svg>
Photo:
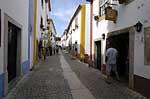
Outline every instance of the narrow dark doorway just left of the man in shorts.
<svg viewBox="0 0 150 99">
<path fill-rule="evenodd" d="M 96 68 L 98 70 L 101 70 L 101 41 L 96 41 L 95 42 L 96 45 L 96 57 L 95 57 L 95 64 L 96 64 Z"/>
</svg>

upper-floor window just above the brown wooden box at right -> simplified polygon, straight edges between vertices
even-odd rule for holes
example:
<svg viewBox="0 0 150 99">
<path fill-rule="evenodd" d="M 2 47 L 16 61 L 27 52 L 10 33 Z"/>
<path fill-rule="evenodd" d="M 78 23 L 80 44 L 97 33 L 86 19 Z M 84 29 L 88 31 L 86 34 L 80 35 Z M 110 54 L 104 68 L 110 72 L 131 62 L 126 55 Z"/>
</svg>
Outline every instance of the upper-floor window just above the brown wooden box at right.
<svg viewBox="0 0 150 99">
<path fill-rule="evenodd" d="M 108 3 L 110 0 L 100 0 L 100 8 L 99 8 L 99 15 L 105 15 L 105 8 L 108 7 Z"/>
</svg>

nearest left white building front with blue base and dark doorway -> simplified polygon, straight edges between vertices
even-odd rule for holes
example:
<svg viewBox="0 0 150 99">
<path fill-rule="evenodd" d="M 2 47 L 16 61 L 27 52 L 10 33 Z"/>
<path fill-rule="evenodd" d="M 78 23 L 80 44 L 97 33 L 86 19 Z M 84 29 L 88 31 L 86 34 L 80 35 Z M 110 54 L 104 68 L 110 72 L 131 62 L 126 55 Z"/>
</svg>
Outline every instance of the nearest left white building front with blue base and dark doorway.
<svg viewBox="0 0 150 99">
<path fill-rule="evenodd" d="M 0 1 L 0 99 L 8 85 L 26 72 L 28 59 L 28 0 Z"/>
</svg>

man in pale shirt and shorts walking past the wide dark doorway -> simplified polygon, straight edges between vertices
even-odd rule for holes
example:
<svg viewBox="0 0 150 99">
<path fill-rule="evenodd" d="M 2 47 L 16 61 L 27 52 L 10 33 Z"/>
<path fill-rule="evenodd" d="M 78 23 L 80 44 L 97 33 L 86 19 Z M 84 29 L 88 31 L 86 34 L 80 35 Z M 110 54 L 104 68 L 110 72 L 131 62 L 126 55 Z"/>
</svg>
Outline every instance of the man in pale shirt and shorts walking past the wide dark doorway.
<svg viewBox="0 0 150 99">
<path fill-rule="evenodd" d="M 107 74 L 107 83 L 111 83 L 110 75 L 111 71 L 115 72 L 117 80 L 119 80 L 119 75 L 117 72 L 117 56 L 118 56 L 118 51 L 117 49 L 114 48 L 112 44 L 108 45 L 108 49 L 106 51 L 106 74 Z"/>
</svg>

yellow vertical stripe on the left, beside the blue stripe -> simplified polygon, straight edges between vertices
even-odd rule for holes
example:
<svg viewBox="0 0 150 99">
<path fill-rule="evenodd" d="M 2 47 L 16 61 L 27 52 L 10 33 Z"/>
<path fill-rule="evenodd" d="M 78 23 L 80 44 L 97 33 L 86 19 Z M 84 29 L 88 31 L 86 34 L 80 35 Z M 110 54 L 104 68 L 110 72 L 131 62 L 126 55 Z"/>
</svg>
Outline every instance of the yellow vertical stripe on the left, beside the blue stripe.
<svg viewBox="0 0 150 99">
<path fill-rule="evenodd" d="M 36 19 L 37 19 L 37 0 L 34 0 L 34 52 L 33 52 L 33 65 L 36 64 Z"/>
</svg>

